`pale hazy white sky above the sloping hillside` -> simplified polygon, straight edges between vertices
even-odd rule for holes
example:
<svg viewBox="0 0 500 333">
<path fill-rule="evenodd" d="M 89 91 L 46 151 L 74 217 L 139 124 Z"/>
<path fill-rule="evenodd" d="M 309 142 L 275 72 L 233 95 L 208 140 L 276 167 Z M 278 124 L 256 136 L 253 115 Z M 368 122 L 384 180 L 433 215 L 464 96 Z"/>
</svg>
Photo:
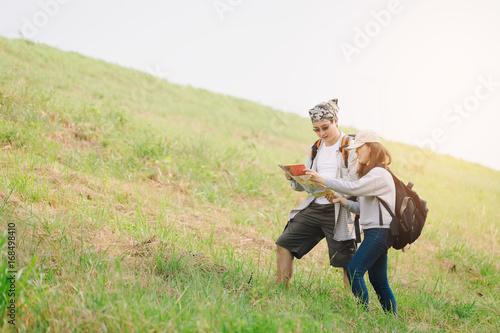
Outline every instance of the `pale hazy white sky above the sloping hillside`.
<svg viewBox="0 0 500 333">
<path fill-rule="evenodd" d="M 499 17 L 499 0 L 0 0 L 0 35 L 305 118 L 338 98 L 341 126 L 500 170 Z"/>
</svg>

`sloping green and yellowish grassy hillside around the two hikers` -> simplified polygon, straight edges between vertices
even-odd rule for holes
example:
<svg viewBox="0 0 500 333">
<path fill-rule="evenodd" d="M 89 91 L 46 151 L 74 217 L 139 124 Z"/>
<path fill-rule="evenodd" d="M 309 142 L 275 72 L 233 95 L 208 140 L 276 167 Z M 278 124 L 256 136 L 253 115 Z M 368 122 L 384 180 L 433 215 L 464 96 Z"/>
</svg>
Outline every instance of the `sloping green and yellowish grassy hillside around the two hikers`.
<svg viewBox="0 0 500 333">
<path fill-rule="evenodd" d="M 430 215 L 389 254 L 400 318 L 371 289 L 367 314 L 324 241 L 275 282 L 305 197 L 275 162 L 304 161 L 307 119 L 26 41 L 0 59 L 2 331 L 500 330 L 500 172 L 386 142 Z"/>
</svg>

